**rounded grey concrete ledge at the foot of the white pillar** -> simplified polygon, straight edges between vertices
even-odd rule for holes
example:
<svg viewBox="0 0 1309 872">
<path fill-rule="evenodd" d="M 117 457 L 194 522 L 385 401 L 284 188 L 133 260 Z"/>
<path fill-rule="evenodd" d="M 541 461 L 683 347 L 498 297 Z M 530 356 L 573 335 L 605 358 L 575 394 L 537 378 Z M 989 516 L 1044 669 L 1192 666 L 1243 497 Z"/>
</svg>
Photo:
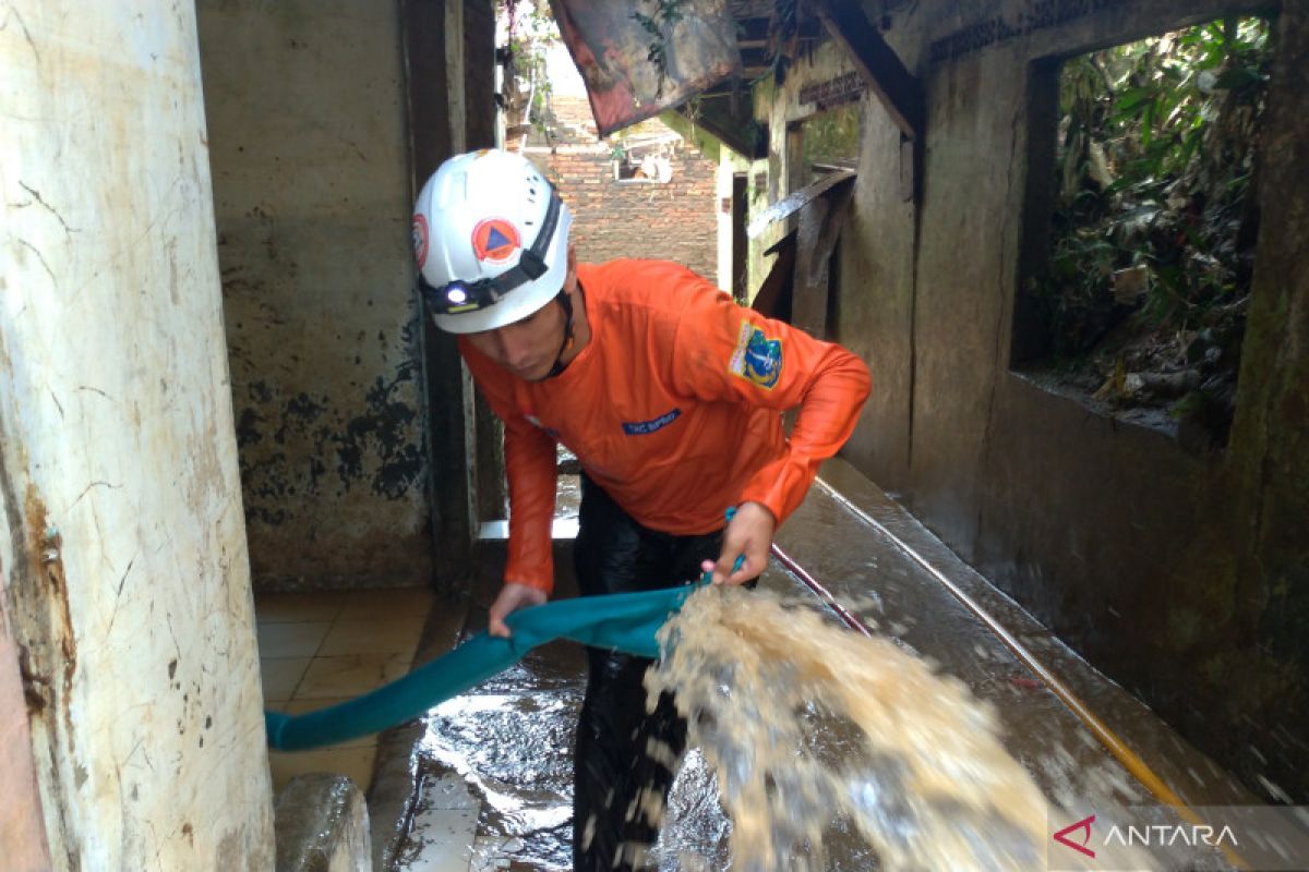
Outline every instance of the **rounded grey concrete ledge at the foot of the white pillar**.
<svg viewBox="0 0 1309 872">
<path fill-rule="evenodd" d="M 274 808 L 278 872 L 372 872 L 368 805 L 344 775 L 291 779 Z"/>
</svg>

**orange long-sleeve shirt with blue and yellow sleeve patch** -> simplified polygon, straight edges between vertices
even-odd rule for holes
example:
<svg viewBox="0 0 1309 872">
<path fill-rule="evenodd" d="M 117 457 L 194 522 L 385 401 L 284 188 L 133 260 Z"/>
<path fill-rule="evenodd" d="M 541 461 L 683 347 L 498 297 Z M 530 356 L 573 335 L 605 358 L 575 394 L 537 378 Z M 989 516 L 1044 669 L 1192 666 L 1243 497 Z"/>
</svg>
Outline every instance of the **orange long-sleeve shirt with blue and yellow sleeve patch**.
<svg viewBox="0 0 1309 872">
<path fill-rule="evenodd" d="M 504 421 L 505 582 L 554 586 L 556 441 L 652 529 L 711 532 L 747 501 L 780 526 L 855 429 L 869 392 L 863 361 L 674 263 L 580 264 L 577 277 L 590 341 L 558 377 L 525 382 L 459 340 Z M 795 407 L 788 439 L 780 413 Z"/>
</svg>

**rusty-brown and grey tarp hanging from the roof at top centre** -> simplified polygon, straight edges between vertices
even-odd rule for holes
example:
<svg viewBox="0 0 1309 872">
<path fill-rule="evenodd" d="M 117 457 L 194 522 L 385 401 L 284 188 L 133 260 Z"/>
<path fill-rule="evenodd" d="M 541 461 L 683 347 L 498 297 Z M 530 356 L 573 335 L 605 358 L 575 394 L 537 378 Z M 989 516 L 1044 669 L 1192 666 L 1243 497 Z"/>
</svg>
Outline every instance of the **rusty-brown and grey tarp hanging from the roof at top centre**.
<svg viewBox="0 0 1309 872">
<path fill-rule="evenodd" d="M 738 73 L 726 0 L 551 0 L 601 136 Z"/>
</svg>

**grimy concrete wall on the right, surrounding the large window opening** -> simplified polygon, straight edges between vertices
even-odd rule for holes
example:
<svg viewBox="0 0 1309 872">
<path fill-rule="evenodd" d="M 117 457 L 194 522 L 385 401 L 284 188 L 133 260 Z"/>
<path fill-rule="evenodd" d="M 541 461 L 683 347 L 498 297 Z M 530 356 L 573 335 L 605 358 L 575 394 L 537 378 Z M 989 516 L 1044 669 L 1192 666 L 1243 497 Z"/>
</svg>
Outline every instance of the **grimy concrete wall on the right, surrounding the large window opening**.
<svg viewBox="0 0 1309 872">
<path fill-rule="evenodd" d="M 1262 226 L 1227 454 L 1189 454 L 1009 370 L 1031 61 L 1238 5 L 893 10 L 886 39 L 927 93 L 924 193 L 916 209 L 899 199 L 899 132 L 865 97 L 838 339 L 869 361 L 874 391 L 846 454 L 1249 786 L 1309 801 L 1302 4 L 1287 4 L 1278 27 L 1262 171 L 1264 216 L 1279 218 Z M 864 7 L 881 21 L 880 4 Z M 775 179 L 785 176 L 783 131 L 809 111 L 798 89 L 831 77 L 834 51 L 797 64 L 776 94 L 757 93 Z"/>
</svg>

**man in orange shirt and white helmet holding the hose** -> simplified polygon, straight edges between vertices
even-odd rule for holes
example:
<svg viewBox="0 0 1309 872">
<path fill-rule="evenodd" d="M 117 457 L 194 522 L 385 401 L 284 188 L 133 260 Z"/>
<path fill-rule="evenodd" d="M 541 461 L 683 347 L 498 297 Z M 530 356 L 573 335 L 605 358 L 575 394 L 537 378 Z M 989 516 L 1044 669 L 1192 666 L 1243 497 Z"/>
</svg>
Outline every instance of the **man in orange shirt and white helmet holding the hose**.
<svg viewBox="0 0 1309 872">
<path fill-rule="evenodd" d="M 556 444 L 583 467 L 583 595 L 759 575 L 774 532 L 844 443 L 869 391 L 863 361 L 742 309 L 678 264 L 579 264 L 572 218 L 525 158 L 446 161 L 419 195 L 420 286 L 504 421 L 509 560 L 491 633 L 554 584 Z M 789 437 L 781 412 L 798 408 Z M 724 511 L 736 514 L 724 527 Z M 737 558 L 744 558 L 733 569 Z M 576 869 L 634 868 L 657 835 L 641 790 L 685 748 L 670 698 L 645 710 L 648 660 L 588 650 L 575 753 Z M 662 757 L 662 754 L 661 754 Z"/>
</svg>

